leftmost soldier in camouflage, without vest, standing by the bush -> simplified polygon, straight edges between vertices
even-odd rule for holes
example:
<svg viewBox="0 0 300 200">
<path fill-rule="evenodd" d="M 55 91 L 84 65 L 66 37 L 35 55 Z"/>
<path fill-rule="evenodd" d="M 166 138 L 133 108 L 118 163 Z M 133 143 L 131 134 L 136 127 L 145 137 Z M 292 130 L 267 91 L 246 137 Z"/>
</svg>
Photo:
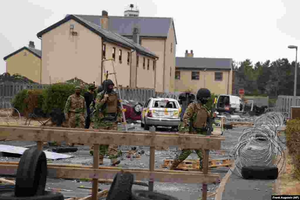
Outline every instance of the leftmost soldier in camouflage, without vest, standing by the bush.
<svg viewBox="0 0 300 200">
<path fill-rule="evenodd" d="M 80 95 L 81 89 L 75 87 L 75 94 L 72 94 L 64 106 L 64 116 L 69 120 L 70 128 L 84 128 L 85 117 L 87 116 L 84 97 Z M 72 144 L 74 146 L 74 144 Z"/>
</svg>

